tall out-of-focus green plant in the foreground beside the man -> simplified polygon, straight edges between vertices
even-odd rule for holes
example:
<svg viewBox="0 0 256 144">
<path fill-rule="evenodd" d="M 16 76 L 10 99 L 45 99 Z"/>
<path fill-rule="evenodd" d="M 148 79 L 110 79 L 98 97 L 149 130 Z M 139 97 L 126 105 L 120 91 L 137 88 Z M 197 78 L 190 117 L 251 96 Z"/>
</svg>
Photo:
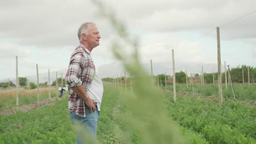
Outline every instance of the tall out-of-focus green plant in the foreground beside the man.
<svg viewBox="0 0 256 144">
<path fill-rule="evenodd" d="M 116 135 L 126 139 L 124 135 L 135 131 L 137 142 L 134 143 L 185 143 L 177 126 L 167 116 L 164 95 L 152 85 L 146 71 L 142 68 L 138 57 L 138 42 L 127 33 L 125 26 L 114 15 L 108 13 L 100 1 L 93 1 L 102 16 L 110 21 L 123 42 L 131 47 L 126 53 L 119 40 L 113 41 L 114 55 L 123 63 L 125 70 L 133 77 L 133 92 L 120 91 L 119 103 L 114 108 L 114 117 L 120 119 L 123 129 L 117 129 Z M 133 135 L 134 136 L 134 135 Z"/>
</svg>

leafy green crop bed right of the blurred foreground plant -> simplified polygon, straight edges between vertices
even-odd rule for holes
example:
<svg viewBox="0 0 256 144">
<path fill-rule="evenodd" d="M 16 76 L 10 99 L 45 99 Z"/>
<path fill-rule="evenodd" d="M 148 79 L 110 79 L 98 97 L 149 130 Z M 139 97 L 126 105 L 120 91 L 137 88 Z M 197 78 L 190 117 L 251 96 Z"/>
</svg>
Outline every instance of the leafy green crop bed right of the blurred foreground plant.
<svg viewBox="0 0 256 144">
<path fill-rule="evenodd" d="M 206 99 L 166 94 L 170 115 L 182 127 L 203 135 L 209 143 L 256 143 L 256 109 L 226 101 L 222 107 Z"/>
</svg>

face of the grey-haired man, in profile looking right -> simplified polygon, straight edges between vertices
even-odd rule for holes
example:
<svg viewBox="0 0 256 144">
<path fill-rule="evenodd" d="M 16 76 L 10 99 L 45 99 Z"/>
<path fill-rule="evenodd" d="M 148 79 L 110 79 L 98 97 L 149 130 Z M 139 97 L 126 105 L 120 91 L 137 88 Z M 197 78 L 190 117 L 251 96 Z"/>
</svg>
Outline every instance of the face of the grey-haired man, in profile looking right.
<svg viewBox="0 0 256 144">
<path fill-rule="evenodd" d="M 94 25 L 88 26 L 88 35 L 86 35 L 87 43 L 92 47 L 96 47 L 100 45 L 100 33 L 98 32 L 98 28 Z"/>
</svg>

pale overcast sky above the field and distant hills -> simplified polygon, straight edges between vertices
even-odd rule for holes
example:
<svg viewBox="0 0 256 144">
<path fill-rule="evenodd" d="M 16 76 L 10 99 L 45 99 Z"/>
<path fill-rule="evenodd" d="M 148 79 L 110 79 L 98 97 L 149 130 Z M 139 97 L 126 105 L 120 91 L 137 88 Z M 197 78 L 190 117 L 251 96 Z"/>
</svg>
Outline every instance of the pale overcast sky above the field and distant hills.
<svg viewBox="0 0 256 144">
<path fill-rule="evenodd" d="M 154 74 L 172 74 L 172 49 L 177 70 L 200 73 L 203 65 L 206 72 L 217 71 L 217 26 L 222 64 L 256 67 L 254 0 L 107 0 L 103 4 L 139 41 L 139 56 L 147 69 L 153 59 Z M 95 22 L 101 34 L 100 46 L 92 51 L 96 66 L 113 66 L 117 59 L 112 55 L 112 41 L 117 33 L 100 11 L 95 3 L 84 0 L 0 0 L 0 80 L 15 77 L 15 56 L 19 57 L 19 76 L 36 75 L 36 64 L 41 75 L 48 69 L 65 75 L 79 44 L 77 29 L 86 21 Z M 236 20 L 241 16 L 245 17 Z M 116 75 L 103 68 L 100 73 Z"/>
</svg>

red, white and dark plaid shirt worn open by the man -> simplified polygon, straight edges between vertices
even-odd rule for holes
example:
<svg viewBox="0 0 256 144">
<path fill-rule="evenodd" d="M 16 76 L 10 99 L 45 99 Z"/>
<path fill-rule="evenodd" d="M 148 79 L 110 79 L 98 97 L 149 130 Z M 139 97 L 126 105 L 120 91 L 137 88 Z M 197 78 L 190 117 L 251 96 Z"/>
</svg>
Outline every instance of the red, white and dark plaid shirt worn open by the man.
<svg viewBox="0 0 256 144">
<path fill-rule="evenodd" d="M 84 90 L 87 92 L 94 79 L 95 66 L 91 58 L 91 53 L 86 47 L 80 44 L 75 48 L 71 55 L 66 81 L 68 84 L 68 109 L 69 113 L 75 111 L 80 117 L 85 117 L 85 103 L 84 100 L 74 93 L 71 87 L 78 87 L 83 85 Z"/>
</svg>

